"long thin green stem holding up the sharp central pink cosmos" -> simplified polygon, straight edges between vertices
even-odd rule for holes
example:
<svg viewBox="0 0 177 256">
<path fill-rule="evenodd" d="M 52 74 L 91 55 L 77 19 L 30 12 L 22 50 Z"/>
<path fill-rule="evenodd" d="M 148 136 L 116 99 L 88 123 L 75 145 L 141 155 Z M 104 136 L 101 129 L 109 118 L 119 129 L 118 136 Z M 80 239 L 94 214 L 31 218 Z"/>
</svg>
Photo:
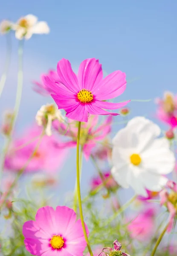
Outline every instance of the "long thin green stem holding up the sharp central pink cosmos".
<svg viewBox="0 0 177 256">
<path fill-rule="evenodd" d="M 81 122 L 78 122 L 78 136 L 77 136 L 77 157 L 76 157 L 76 169 L 77 169 L 77 188 L 78 188 L 78 207 L 80 212 L 82 229 L 85 237 L 85 241 L 87 242 L 87 247 L 91 256 L 93 256 L 92 249 L 90 247 L 90 243 L 87 237 L 87 231 L 84 224 L 84 217 L 82 212 L 82 202 L 81 202 L 81 189 L 80 189 L 80 177 L 79 177 L 79 140 L 80 140 L 80 132 L 81 132 Z"/>
</svg>

